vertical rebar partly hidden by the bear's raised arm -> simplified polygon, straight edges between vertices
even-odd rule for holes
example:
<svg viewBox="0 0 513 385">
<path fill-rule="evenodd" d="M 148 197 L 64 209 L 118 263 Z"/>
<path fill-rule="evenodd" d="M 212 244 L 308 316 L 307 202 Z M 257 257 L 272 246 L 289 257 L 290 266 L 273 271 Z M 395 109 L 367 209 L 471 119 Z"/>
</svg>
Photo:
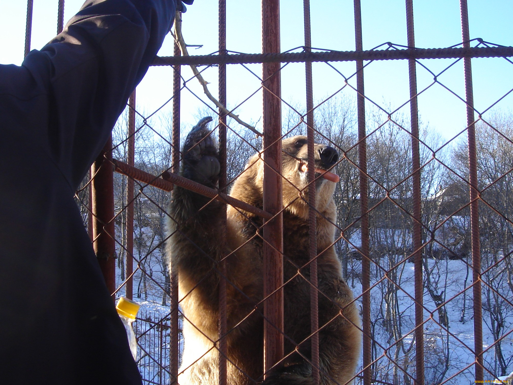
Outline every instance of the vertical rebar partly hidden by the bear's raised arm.
<svg viewBox="0 0 513 385">
<path fill-rule="evenodd" d="M 180 47 L 174 43 L 174 55 L 180 56 Z M 180 80 L 181 66 L 173 67 L 173 133 L 172 133 L 172 166 L 171 171 L 178 174 L 180 171 Z M 169 353 L 169 374 L 170 384 L 178 383 L 178 360 L 179 360 L 179 319 L 178 319 L 178 271 L 171 266 L 170 275 L 170 302 L 171 302 L 171 330 L 170 330 L 170 353 Z"/>
</svg>

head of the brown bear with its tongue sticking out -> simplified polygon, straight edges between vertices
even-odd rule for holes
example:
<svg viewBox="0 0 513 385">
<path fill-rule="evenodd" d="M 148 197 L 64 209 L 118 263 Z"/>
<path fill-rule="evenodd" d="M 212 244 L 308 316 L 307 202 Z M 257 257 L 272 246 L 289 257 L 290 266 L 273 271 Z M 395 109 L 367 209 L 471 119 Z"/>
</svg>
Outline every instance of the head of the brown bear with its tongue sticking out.
<svg viewBox="0 0 513 385">
<path fill-rule="evenodd" d="M 282 141 L 283 206 L 290 213 L 308 218 L 308 145 L 307 137 L 295 136 Z M 262 153 L 251 157 L 244 172 L 235 182 L 230 195 L 234 198 L 258 205 L 263 197 L 264 162 Z M 325 144 L 314 144 L 315 201 L 317 209 L 324 211 L 334 205 L 334 180 L 338 177 L 325 171 L 332 168 L 339 153 Z M 331 178 L 330 178 L 331 176 Z M 330 211 L 332 209 L 330 208 Z"/>
</svg>

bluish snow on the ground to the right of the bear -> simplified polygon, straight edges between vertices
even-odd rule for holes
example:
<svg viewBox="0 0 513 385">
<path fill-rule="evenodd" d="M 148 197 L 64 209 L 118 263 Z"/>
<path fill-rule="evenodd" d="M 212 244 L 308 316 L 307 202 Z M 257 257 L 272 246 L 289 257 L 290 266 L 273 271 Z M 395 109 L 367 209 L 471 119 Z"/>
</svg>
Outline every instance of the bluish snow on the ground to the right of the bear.
<svg viewBox="0 0 513 385">
<path fill-rule="evenodd" d="M 384 256 L 379 261 L 380 269 L 376 265 L 372 266 L 371 273 L 371 324 L 374 332 L 374 339 L 377 344 L 373 357 L 379 357 L 385 352 L 388 357 L 395 360 L 407 373 L 415 372 L 415 356 L 408 349 L 415 350 L 415 346 L 410 344 L 415 340 L 412 333 L 415 328 L 415 268 L 413 263 L 404 262 L 396 268 L 390 269 L 402 256 Z M 472 310 L 472 272 L 467 274 L 467 265 L 462 260 L 427 260 L 429 269 L 429 278 L 431 287 L 435 288 L 435 294 L 441 296 L 447 314 L 448 328 L 441 321 L 440 308 L 424 289 L 424 354 L 426 383 L 440 383 L 452 375 L 462 371 L 456 377 L 449 379 L 448 384 L 468 384 L 473 383 L 473 367 L 465 369 L 474 360 L 472 350 L 474 348 L 474 320 Z M 352 264 L 353 271 L 348 272 L 358 274 L 361 272 L 361 262 Z M 390 269 L 390 271 L 389 271 Z M 426 272 L 425 272 L 426 273 Z M 388 278 L 382 280 L 385 275 Z M 392 283 L 394 281 L 396 284 Z M 425 278 L 426 281 L 426 278 Z M 348 279 L 348 283 L 351 280 Z M 425 283 L 426 284 L 426 283 Z M 400 287 L 398 287 L 400 286 Z M 506 362 L 509 363 L 508 372 L 513 369 L 511 357 L 513 357 L 513 339 L 509 334 L 513 330 L 513 315 L 511 306 L 507 300 L 491 301 L 494 306 L 502 306 L 500 310 L 502 316 L 503 331 L 499 335 L 502 341 L 495 343 L 492 330 L 496 328 L 495 321 L 490 319 L 487 296 L 493 297 L 493 293 L 485 291 L 483 285 L 483 349 L 485 368 L 492 372 L 490 374 L 485 370 L 485 379 L 494 380 L 500 373 L 497 365 L 496 347 L 499 346 Z M 464 291 L 466 288 L 466 291 Z M 497 288 L 497 287 L 496 287 Z M 502 295 L 511 300 L 509 288 L 501 287 Z M 362 293 L 362 286 L 359 280 L 354 280 L 354 295 L 359 296 Z M 461 293 L 464 291 L 464 293 Z M 507 291 L 507 294 L 505 294 Z M 500 297 L 497 296 L 496 297 Z M 499 298 L 500 299 L 500 298 Z M 361 306 L 361 298 L 358 299 Z M 388 317 L 387 317 L 388 315 Z M 399 317 L 397 317 L 399 315 Z M 512 333 L 513 334 L 513 333 Z M 400 340 L 399 344 L 394 343 Z M 445 373 L 444 366 L 447 363 Z M 404 383 L 404 373 L 394 368 L 391 360 L 388 358 L 379 359 L 376 370 L 382 373 L 381 380 L 394 383 L 394 372 L 399 383 Z M 506 373 L 508 373 L 506 372 Z M 379 378 L 378 378 L 379 379 Z"/>
</svg>

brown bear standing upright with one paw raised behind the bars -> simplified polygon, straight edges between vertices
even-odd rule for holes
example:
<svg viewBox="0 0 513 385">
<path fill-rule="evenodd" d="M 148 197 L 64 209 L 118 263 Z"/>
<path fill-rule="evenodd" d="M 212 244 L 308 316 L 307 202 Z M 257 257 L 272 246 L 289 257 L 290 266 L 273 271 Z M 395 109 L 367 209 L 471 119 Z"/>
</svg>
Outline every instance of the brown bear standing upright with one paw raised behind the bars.
<svg viewBox="0 0 513 385">
<path fill-rule="evenodd" d="M 218 185 L 218 145 L 208 129 L 212 118 L 194 126 L 183 148 L 182 176 L 212 188 Z M 169 268 L 178 272 L 179 298 L 184 322 L 184 352 L 180 385 L 216 385 L 219 382 L 218 292 L 216 269 L 226 260 L 227 373 L 230 385 L 260 383 L 313 384 L 310 358 L 310 284 L 308 205 L 305 201 L 307 139 L 284 139 L 283 148 L 283 247 L 285 355 L 263 381 L 263 272 L 262 218 L 232 206 L 227 209 L 227 250 L 221 249 L 223 205 L 175 186 L 169 206 Z M 322 384 L 353 383 L 360 355 L 360 319 L 341 264 L 333 246 L 336 206 L 335 183 L 320 172 L 338 160 L 332 147 L 315 144 L 317 197 L 317 248 L 319 279 L 320 377 Z M 333 176 L 333 174 L 331 174 Z M 257 153 L 231 188 L 236 199 L 262 208 L 263 161 Z M 306 198 L 307 199 L 307 198 Z M 295 276 L 295 277 L 294 277 Z M 294 277 L 293 279 L 291 279 Z M 295 350 L 295 352 L 294 352 Z M 306 357 L 306 359 L 305 359 Z"/>
</svg>

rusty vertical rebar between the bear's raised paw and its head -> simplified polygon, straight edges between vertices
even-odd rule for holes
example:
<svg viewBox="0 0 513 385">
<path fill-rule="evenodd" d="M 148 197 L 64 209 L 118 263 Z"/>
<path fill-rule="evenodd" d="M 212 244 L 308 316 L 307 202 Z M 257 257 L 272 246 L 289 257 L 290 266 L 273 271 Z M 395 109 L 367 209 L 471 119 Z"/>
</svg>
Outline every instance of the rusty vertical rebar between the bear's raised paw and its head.
<svg viewBox="0 0 513 385">
<path fill-rule="evenodd" d="M 219 0 L 219 52 L 226 53 L 226 0 Z M 219 103 L 226 107 L 226 64 L 219 66 Z M 219 175 L 219 191 L 226 193 L 226 114 L 219 109 L 219 162 L 221 172 Z M 221 257 L 219 263 L 219 385 L 226 385 L 226 204 L 223 205 L 224 217 L 221 220 Z"/>
</svg>

